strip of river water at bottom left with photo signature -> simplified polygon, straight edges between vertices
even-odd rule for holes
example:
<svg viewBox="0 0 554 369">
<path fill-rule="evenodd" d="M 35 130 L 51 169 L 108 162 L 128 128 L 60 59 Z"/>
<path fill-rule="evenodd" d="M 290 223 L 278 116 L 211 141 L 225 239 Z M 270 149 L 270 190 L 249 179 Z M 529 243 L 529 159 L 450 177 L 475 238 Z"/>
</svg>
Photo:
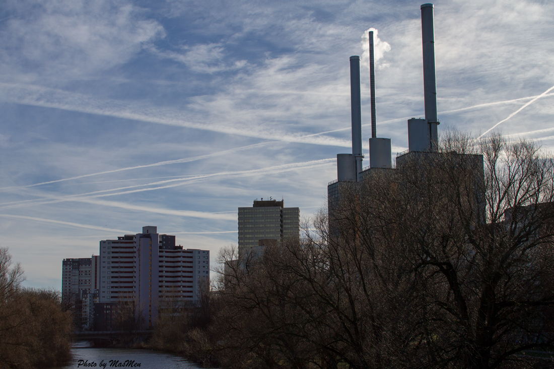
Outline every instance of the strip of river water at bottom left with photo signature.
<svg viewBox="0 0 554 369">
<path fill-rule="evenodd" d="M 96 349 L 93 347 L 73 347 L 73 360 L 68 366 L 59 369 L 198 369 L 194 363 L 170 353 L 152 350 Z M 139 366 L 140 364 L 140 366 Z"/>
</svg>

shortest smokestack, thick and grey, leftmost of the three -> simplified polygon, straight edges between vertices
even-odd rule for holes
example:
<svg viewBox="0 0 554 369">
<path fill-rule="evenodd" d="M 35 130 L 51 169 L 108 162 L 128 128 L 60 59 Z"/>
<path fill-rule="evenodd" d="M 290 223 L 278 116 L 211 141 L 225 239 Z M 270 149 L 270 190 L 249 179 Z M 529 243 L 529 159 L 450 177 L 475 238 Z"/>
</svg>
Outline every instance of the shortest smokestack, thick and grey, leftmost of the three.
<svg viewBox="0 0 554 369">
<path fill-rule="evenodd" d="M 356 160 L 356 181 L 362 172 L 362 101 L 360 96 L 360 57 L 350 57 L 350 99 L 352 105 L 352 155 Z"/>
</svg>

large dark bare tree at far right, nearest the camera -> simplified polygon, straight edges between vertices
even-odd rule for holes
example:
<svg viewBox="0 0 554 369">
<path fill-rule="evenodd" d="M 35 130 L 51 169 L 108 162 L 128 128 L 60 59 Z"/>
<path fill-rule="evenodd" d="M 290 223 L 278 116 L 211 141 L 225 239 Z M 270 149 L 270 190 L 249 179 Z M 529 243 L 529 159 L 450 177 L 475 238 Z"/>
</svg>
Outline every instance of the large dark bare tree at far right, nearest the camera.
<svg viewBox="0 0 554 369">
<path fill-rule="evenodd" d="M 553 347 L 542 315 L 554 303 L 554 166 L 529 141 L 449 140 L 448 151 L 398 171 L 394 199 L 414 270 L 438 308 L 425 322 L 429 364 L 509 367 L 515 353 Z M 478 151 L 483 169 L 479 155 L 450 151 L 453 143 Z"/>
</svg>

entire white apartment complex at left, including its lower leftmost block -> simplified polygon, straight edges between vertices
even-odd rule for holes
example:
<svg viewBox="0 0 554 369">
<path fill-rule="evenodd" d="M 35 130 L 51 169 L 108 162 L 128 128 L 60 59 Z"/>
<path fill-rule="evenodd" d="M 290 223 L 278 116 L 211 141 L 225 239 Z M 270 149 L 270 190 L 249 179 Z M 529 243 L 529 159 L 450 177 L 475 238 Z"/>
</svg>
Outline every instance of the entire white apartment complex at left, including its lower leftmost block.
<svg viewBox="0 0 554 369">
<path fill-rule="evenodd" d="M 209 286 L 209 251 L 183 249 L 175 245 L 175 235 L 158 234 L 153 226 L 101 240 L 98 256 L 63 262 L 62 291 L 76 294 L 89 329 L 93 320 L 95 330 L 111 329 L 120 303 L 134 304 L 137 317 L 152 327 L 164 301 L 194 304 L 204 286 Z"/>
</svg>

